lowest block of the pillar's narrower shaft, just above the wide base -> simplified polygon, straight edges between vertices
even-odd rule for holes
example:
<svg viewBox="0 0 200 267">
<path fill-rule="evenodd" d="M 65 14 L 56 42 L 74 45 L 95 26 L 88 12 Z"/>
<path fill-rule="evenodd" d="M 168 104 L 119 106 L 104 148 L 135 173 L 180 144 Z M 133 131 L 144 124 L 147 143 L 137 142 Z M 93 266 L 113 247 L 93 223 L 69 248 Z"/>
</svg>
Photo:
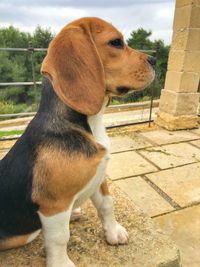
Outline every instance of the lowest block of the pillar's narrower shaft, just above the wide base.
<svg viewBox="0 0 200 267">
<path fill-rule="evenodd" d="M 196 72 L 168 71 L 165 79 L 165 90 L 195 93 L 198 90 L 199 74 Z"/>
</svg>

